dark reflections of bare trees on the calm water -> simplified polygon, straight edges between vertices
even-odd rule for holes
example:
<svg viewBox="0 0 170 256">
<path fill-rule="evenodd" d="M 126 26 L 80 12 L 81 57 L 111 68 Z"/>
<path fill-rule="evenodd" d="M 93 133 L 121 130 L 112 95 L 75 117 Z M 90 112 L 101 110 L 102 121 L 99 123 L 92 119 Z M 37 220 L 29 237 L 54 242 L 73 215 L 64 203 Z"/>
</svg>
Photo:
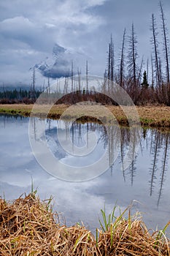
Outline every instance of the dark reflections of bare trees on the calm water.
<svg viewBox="0 0 170 256">
<path fill-rule="evenodd" d="M 47 121 L 48 129 L 50 128 L 51 122 Z M 36 125 L 35 123 L 33 125 Z M 64 121 L 65 128 L 69 127 L 67 121 Z M 120 133 L 121 133 L 121 138 Z M 36 133 L 36 127 L 34 129 Z M 47 131 L 46 131 L 47 132 Z M 109 148 L 109 170 L 112 175 L 114 173 L 114 165 L 112 164 L 115 157 L 115 151 L 118 146 L 118 141 L 120 141 L 120 153 L 117 158 L 120 161 L 120 167 L 122 170 L 123 181 L 126 183 L 131 182 L 131 187 L 134 186 L 135 180 L 137 180 L 139 172 L 139 163 L 138 159 L 140 154 L 145 154 L 145 151 L 148 152 L 148 157 L 150 159 L 150 168 L 148 170 L 149 181 L 148 182 L 148 192 L 150 197 L 152 197 L 153 192 L 158 193 L 157 206 L 161 201 L 163 195 L 163 184 L 166 181 L 166 173 L 168 171 L 168 161 L 169 161 L 169 138 L 170 130 L 159 130 L 159 129 L 147 129 L 143 128 L 142 138 L 139 147 L 139 151 L 136 154 L 136 141 L 139 139 L 139 134 L 137 129 L 131 131 L 128 127 L 117 127 L 109 125 L 105 127 L 102 124 L 87 122 L 82 124 L 80 121 L 74 121 L 70 134 L 68 134 L 68 129 L 66 129 L 66 140 L 69 137 L 72 139 L 72 146 L 82 146 L 85 144 L 88 148 L 89 138 L 88 132 L 97 132 L 97 146 L 102 146 L 103 149 Z M 131 132 L 133 132 L 131 145 L 130 138 Z M 35 137 L 36 138 L 36 137 Z M 57 140 L 56 140 L 57 143 Z M 124 168 L 124 157 L 127 152 L 128 147 L 130 147 L 128 154 L 129 166 L 127 169 Z M 143 166 L 143 165 L 142 165 Z"/>
</svg>

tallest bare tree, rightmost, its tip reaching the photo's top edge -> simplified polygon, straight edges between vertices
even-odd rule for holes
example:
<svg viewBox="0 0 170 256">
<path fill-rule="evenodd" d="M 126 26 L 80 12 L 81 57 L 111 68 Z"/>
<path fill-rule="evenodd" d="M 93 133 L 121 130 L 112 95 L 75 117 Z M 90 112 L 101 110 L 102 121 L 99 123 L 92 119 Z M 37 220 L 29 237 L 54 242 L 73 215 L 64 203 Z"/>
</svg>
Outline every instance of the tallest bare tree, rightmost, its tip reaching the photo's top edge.
<svg viewBox="0 0 170 256">
<path fill-rule="evenodd" d="M 163 32 L 163 52 L 165 53 L 166 58 L 166 78 L 167 83 L 169 83 L 169 47 L 168 47 L 168 39 L 167 39 L 167 29 L 166 29 L 166 19 L 163 12 L 163 6 L 160 1 L 160 10 L 161 10 L 161 20 L 162 20 L 162 32 Z"/>
</svg>

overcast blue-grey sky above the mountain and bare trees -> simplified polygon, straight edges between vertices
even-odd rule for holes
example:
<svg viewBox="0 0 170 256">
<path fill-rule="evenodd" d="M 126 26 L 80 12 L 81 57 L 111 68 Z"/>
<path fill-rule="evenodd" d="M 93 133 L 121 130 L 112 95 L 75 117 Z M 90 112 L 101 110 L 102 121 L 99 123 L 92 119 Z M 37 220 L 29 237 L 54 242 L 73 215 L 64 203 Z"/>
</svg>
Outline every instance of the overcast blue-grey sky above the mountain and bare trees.
<svg viewBox="0 0 170 256">
<path fill-rule="evenodd" d="M 170 1 L 162 2 L 170 24 Z M 103 75 L 110 34 L 117 60 L 123 29 L 126 28 L 128 36 L 132 22 L 139 42 L 139 56 L 144 54 L 147 59 L 151 50 L 152 12 L 160 29 L 157 0 L 0 1 L 0 86 L 3 83 L 4 86 L 28 85 L 30 68 L 45 62 L 49 69 L 55 64 L 54 72 L 58 70 L 58 75 L 62 75 L 73 60 L 74 70 L 79 66 L 84 74 L 88 60 L 90 74 Z M 170 31 L 170 25 L 168 29 Z M 61 52 L 57 56 L 53 54 L 55 44 L 62 47 L 57 47 Z M 46 79 L 43 75 L 37 69 L 37 83 L 43 83 Z"/>
</svg>

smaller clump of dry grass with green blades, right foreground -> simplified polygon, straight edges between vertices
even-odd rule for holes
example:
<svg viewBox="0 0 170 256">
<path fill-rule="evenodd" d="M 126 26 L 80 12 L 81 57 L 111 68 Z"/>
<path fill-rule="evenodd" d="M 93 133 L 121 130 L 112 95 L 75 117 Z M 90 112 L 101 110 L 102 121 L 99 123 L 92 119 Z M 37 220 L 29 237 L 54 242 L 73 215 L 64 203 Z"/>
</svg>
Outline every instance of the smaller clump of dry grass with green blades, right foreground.
<svg viewBox="0 0 170 256">
<path fill-rule="evenodd" d="M 139 219 L 121 219 L 106 232 L 100 232 L 98 249 L 101 255 L 169 255 L 169 241 L 160 234 L 152 235 Z"/>
</svg>

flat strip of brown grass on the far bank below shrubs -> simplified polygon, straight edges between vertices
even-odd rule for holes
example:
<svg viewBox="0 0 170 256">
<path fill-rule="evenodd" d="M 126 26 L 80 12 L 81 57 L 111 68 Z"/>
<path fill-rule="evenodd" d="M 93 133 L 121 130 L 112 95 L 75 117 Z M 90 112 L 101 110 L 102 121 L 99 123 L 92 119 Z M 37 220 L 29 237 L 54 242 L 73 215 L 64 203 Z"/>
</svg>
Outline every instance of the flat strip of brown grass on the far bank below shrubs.
<svg viewBox="0 0 170 256">
<path fill-rule="evenodd" d="M 61 114 L 68 108 L 68 105 L 54 105 L 53 108 L 50 110 L 50 113 L 48 114 L 49 118 L 60 118 Z M 31 109 L 33 108 L 33 105 L 24 105 L 24 104 L 15 104 L 15 105 L 0 105 L 0 113 L 9 113 L 9 114 L 19 114 L 21 116 L 30 116 Z M 45 116 L 45 108 L 47 108 L 47 105 L 39 105 L 39 107 L 36 109 L 35 116 L 44 117 Z M 77 106 L 72 107 L 72 113 L 75 113 L 77 111 Z M 100 118 L 102 118 L 102 115 L 104 117 L 104 113 L 97 112 L 97 106 L 90 105 L 87 109 L 86 106 L 79 106 L 79 108 L 82 108 L 82 112 L 84 111 L 85 116 L 82 118 L 82 121 L 94 121 L 95 118 L 92 118 L 93 113 L 96 111 L 96 114 Z M 117 118 L 117 121 L 119 124 L 127 125 L 128 121 L 125 117 L 125 114 L 123 113 L 123 110 L 118 106 L 107 106 L 107 108 L 111 111 L 111 113 L 114 114 L 115 118 Z M 139 118 L 141 121 L 142 126 L 147 127 L 170 127 L 170 107 L 165 106 L 142 106 L 142 107 L 136 107 Z M 74 111 L 75 110 L 75 111 Z M 87 116 L 88 113 L 88 116 Z M 69 118 L 69 116 L 68 116 Z"/>
</svg>

